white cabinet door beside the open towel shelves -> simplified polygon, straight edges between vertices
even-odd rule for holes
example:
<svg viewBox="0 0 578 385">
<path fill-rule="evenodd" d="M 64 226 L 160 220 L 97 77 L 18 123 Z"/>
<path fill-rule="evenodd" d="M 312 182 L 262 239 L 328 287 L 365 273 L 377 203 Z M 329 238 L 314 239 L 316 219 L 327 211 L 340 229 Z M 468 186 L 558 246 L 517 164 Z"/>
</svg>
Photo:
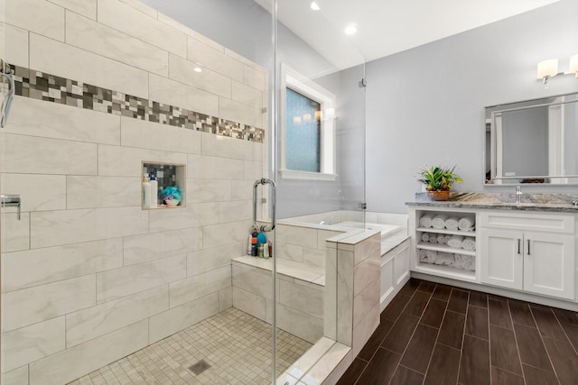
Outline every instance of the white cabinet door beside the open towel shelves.
<svg viewBox="0 0 578 385">
<path fill-rule="evenodd" d="M 523 287 L 522 232 L 482 229 L 480 280 L 509 289 Z"/>
</svg>

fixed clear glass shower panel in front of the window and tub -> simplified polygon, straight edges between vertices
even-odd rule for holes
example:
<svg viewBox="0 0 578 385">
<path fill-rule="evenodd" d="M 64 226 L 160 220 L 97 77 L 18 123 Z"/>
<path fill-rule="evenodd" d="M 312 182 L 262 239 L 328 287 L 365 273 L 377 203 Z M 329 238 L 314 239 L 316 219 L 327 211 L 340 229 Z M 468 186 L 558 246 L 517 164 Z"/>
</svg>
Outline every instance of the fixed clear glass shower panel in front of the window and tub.
<svg viewBox="0 0 578 385">
<path fill-rule="evenodd" d="M 318 2 L 321 10 L 315 11 L 311 1 L 276 1 L 276 141 L 275 170 L 270 175 L 277 183 L 279 218 L 277 360 L 282 357 L 279 335 L 284 332 L 313 346 L 278 373 L 281 383 L 302 379 L 321 383 L 325 378 L 318 376 L 323 370 L 314 369 L 315 362 L 335 342 L 351 346 L 352 328 L 348 332 L 349 326 L 343 327 L 349 321 L 343 312 L 338 316 L 345 307 L 337 307 L 341 290 L 337 251 L 330 250 L 327 240 L 347 231 L 343 225 L 365 222 L 365 66 L 351 37 L 343 32 L 346 25 L 335 8 L 340 5 L 334 3 Z M 353 11 L 356 5 L 350 6 Z M 311 100 L 310 108 L 294 108 L 294 93 Z M 318 111 L 313 104 L 319 105 Z M 317 136 L 312 138 L 311 126 L 319 130 L 319 142 Z M 294 135 L 300 133 L 295 127 L 304 132 L 299 139 L 305 144 L 297 149 Z M 307 156 L 318 156 L 317 170 L 294 167 L 294 158 Z"/>
</svg>

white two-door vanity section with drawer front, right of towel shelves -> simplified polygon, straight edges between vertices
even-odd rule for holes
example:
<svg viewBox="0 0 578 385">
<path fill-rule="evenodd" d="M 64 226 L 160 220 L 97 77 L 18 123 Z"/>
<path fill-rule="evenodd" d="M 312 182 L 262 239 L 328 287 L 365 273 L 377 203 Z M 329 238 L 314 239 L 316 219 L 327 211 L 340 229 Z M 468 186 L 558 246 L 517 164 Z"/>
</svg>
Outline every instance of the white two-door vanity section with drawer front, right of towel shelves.
<svg viewBox="0 0 578 385">
<path fill-rule="evenodd" d="M 575 299 L 575 215 L 480 212 L 480 281 Z"/>
</svg>

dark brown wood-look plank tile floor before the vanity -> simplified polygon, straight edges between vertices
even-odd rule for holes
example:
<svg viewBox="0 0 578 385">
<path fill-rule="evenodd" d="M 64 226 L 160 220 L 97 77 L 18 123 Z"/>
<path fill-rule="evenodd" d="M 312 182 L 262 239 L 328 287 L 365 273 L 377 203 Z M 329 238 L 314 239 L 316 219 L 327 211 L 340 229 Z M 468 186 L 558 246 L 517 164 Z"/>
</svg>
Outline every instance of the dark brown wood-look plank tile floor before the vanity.
<svg viewBox="0 0 578 385">
<path fill-rule="evenodd" d="M 412 279 L 338 385 L 578 385 L 578 313 Z"/>
</svg>

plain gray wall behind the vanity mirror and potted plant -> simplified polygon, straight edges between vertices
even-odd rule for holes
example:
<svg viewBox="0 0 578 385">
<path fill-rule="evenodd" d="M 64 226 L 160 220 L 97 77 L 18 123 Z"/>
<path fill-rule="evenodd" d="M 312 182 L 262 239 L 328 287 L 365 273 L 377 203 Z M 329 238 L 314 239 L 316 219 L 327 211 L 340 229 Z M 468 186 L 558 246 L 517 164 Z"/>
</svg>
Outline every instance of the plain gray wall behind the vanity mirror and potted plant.
<svg viewBox="0 0 578 385">
<path fill-rule="evenodd" d="M 539 61 L 561 70 L 578 52 L 578 1 L 564 0 L 367 64 L 368 209 L 406 213 L 427 165 L 457 165 L 456 191 L 483 187 L 484 107 L 578 91 L 570 76 L 536 80 Z M 524 186 L 525 192 L 577 192 Z"/>
</svg>

